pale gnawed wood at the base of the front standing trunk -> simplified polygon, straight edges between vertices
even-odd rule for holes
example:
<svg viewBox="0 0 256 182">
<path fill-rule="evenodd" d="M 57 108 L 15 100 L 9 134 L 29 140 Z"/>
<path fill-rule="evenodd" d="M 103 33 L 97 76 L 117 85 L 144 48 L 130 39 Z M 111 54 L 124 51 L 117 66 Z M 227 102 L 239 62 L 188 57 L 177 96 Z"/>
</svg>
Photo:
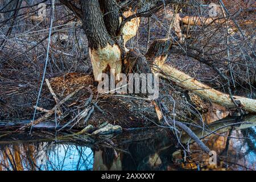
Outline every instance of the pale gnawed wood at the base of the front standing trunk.
<svg viewBox="0 0 256 182">
<path fill-rule="evenodd" d="M 114 44 L 98 49 L 89 49 L 90 60 L 92 61 L 93 75 L 96 81 L 101 81 L 98 76 L 104 73 L 109 66 L 110 69 L 115 69 L 115 74 L 121 73 L 122 61 L 121 50 Z"/>
</svg>

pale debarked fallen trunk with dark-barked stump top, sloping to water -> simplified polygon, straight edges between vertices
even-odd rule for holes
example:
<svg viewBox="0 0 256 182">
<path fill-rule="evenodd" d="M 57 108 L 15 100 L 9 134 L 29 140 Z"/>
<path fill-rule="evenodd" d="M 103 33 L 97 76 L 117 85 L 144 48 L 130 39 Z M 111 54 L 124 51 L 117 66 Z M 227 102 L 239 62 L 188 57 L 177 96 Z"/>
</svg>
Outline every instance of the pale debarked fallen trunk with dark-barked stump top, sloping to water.
<svg viewBox="0 0 256 182">
<path fill-rule="evenodd" d="M 148 61 L 152 62 L 151 71 L 153 73 L 159 72 L 160 76 L 163 78 L 172 80 L 181 88 L 189 90 L 218 105 L 228 108 L 237 108 L 237 106 L 239 106 L 249 113 L 256 113 L 256 100 L 240 96 L 230 98 L 229 94 L 221 93 L 218 90 L 210 88 L 210 86 L 202 84 L 195 78 L 171 67 L 171 65 L 164 64 L 168 57 L 167 53 L 171 47 L 171 39 L 159 39 L 151 44 L 146 53 L 146 57 Z M 237 105 L 234 101 L 236 101 L 235 103 Z"/>
</svg>

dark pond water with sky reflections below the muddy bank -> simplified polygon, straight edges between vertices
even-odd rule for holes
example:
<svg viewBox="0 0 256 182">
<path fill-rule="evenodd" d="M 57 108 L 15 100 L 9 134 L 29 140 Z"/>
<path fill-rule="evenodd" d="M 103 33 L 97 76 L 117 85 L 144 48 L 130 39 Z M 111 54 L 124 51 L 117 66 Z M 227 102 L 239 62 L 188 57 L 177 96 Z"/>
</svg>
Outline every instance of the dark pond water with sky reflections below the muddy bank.
<svg viewBox="0 0 256 182">
<path fill-rule="evenodd" d="M 249 116 L 238 125 L 234 119 L 211 123 L 207 128 L 218 130 L 204 140 L 211 150 L 222 156 L 228 169 L 255 170 L 256 117 Z M 241 120 L 242 121 L 242 120 Z M 241 122 L 237 121 L 237 122 Z M 229 126 L 230 125 L 230 126 Z M 196 130 L 197 136 L 205 134 Z M 36 135 L 36 132 L 34 133 Z M 41 134 L 42 135 L 42 134 Z M 240 139 L 238 139 L 240 138 Z M 243 138 L 243 139 L 241 139 Z M 10 138 L 9 138 L 10 139 Z M 76 140 L 60 141 L 45 138 L 0 140 L 0 170 L 202 170 L 208 156 L 190 142 L 191 157 L 184 160 L 184 148 L 167 130 L 152 128 L 125 132 L 97 144 Z M 180 139 L 187 147 L 189 137 Z M 221 167 L 218 167 L 221 169 Z"/>
</svg>

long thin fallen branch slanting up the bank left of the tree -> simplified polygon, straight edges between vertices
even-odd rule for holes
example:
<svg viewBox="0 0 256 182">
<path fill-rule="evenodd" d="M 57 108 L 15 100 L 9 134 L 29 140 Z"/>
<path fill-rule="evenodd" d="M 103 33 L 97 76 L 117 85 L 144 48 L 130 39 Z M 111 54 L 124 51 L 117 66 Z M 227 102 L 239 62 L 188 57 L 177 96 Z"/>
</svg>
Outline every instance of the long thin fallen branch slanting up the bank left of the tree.
<svg viewBox="0 0 256 182">
<path fill-rule="evenodd" d="M 73 97 L 77 92 L 79 92 L 81 89 L 83 89 L 84 86 L 81 86 L 79 89 L 75 90 L 73 93 L 69 94 L 67 97 L 65 97 L 63 100 L 61 100 L 59 102 L 59 104 L 56 104 L 51 110 L 48 111 L 48 113 L 44 114 L 43 117 L 40 117 L 38 119 L 36 119 L 36 121 L 34 121 L 34 123 L 28 123 L 27 125 L 20 127 L 19 130 L 26 130 L 29 127 L 32 127 L 32 125 L 38 125 L 38 123 L 44 121 L 45 119 L 49 118 L 52 114 L 55 113 L 55 110 L 60 107 L 60 105 L 64 104 L 65 102 L 67 102 L 71 97 Z"/>
</svg>

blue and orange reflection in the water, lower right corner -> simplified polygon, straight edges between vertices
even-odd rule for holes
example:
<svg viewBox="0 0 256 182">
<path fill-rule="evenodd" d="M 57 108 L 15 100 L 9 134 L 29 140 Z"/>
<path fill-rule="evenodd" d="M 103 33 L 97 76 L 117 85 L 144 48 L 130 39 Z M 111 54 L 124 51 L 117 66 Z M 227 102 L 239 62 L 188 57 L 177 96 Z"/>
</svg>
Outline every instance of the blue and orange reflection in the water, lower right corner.
<svg viewBox="0 0 256 182">
<path fill-rule="evenodd" d="M 251 137 L 250 133 L 256 134 L 255 126 L 249 129 L 230 129 L 222 135 L 208 137 L 207 146 L 210 150 L 216 151 L 228 165 L 228 169 L 232 170 L 256 170 L 256 141 L 255 137 Z M 241 139 L 244 138 L 244 139 Z M 196 146 L 191 148 L 195 150 Z M 203 152 L 194 152 L 192 154 L 194 161 L 204 161 L 208 163 L 208 156 Z"/>
</svg>

